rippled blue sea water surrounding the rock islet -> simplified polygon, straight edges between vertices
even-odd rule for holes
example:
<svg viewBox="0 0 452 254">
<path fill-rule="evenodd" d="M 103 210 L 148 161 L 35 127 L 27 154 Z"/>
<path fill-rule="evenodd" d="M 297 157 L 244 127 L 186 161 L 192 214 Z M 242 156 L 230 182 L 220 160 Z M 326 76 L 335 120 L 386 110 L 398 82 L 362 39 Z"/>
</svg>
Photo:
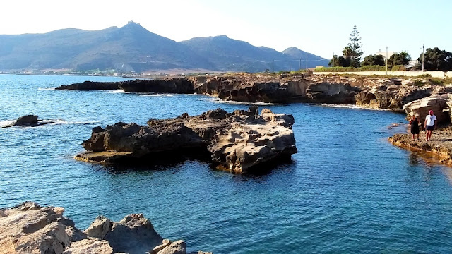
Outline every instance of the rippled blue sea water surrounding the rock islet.
<svg viewBox="0 0 452 254">
<path fill-rule="evenodd" d="M 140 168 L 77 162 L 95 126 L 200 114 L 227 104 L 202 95 L 47 88 L 120 78 L 0 75 L 0 207 L 66 208 L 84 229 L 98 214 L 144 213 L 164 238 L 214 253 L 452 253 L 451 169 L 386 141 L 403 114 L 321 105 L 266 105 L 295 116 L 299 152 L 260 175 L 186 160 Z M 400 129 L 398 130 L 400 131 Z"/>
</svg>

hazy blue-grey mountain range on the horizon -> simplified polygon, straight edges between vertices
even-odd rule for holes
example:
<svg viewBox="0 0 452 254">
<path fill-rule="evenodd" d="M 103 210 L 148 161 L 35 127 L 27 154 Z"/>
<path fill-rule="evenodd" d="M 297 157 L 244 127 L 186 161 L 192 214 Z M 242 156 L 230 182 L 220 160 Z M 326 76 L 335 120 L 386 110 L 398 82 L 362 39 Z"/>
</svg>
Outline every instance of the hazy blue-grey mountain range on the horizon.
<svg viewBox="0 0 452 254">
<path fill-rule="evenodd" d="M 175 42 L 134 22 L 121 28 L 96 31 L 68 28 L 44 34 L 0 35 L 0 71 L 203 69 L 257 72 L 326 66 L 328 61 L 294 47 L 278 52 L 225 35 Z"/>
</svg>

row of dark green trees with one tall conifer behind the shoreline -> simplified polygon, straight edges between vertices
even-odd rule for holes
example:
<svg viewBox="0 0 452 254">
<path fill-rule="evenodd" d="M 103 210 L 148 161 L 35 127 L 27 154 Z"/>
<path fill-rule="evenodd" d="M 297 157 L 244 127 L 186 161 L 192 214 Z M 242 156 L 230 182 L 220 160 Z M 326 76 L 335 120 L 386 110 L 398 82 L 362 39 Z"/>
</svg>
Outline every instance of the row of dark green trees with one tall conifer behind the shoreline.
<svg viewBox="0 0 452 254">
<path fill-rule="evenodd" d="M 361 37 L 356 25 L 350 32 L 350 42 L 343 49 L 343 55 L 334 55 L 328 66 L 330 67 L 362 67 L 362 66 L 386 66 L 386 61 L 381 54 L 371 54 L 364 57 L 361 61 L 362 51 Z M 407 66 L 411 60 L 408 52 L 400 52 L 392 54 L 388 58 L 388 70 L 393 66 Z M 417 65 L 413 69 L 422 69 L 422 61 L 424 61 L 424 70 L 427 71 L 452 71 L 452 52 L 441 50 L 438 47 L 433 49 L 427 48 L 422 60 L 422 53 L 417 58 Z"/>
</svg>

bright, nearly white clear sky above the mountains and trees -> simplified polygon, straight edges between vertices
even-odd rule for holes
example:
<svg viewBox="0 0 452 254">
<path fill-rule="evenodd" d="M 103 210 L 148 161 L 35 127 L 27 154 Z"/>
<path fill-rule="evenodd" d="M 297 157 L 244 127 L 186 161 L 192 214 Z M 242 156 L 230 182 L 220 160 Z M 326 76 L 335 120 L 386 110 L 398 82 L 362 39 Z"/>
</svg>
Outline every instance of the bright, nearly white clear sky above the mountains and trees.
<svg viewBox="0 0 452 254">
<path fill-rule="evenodd" d="M 227 35 L 283 51 L 297 47 L 331 59 L 342 54 L 353 25 L 364 56 L 379 50 L 408 51 L 422 44 L 452 52 L 449 0 L 3 0 L 0 35 L 43 33 L 62 28 L 100 30 L 140 23 L 175 41 Z"/>
</svg>

